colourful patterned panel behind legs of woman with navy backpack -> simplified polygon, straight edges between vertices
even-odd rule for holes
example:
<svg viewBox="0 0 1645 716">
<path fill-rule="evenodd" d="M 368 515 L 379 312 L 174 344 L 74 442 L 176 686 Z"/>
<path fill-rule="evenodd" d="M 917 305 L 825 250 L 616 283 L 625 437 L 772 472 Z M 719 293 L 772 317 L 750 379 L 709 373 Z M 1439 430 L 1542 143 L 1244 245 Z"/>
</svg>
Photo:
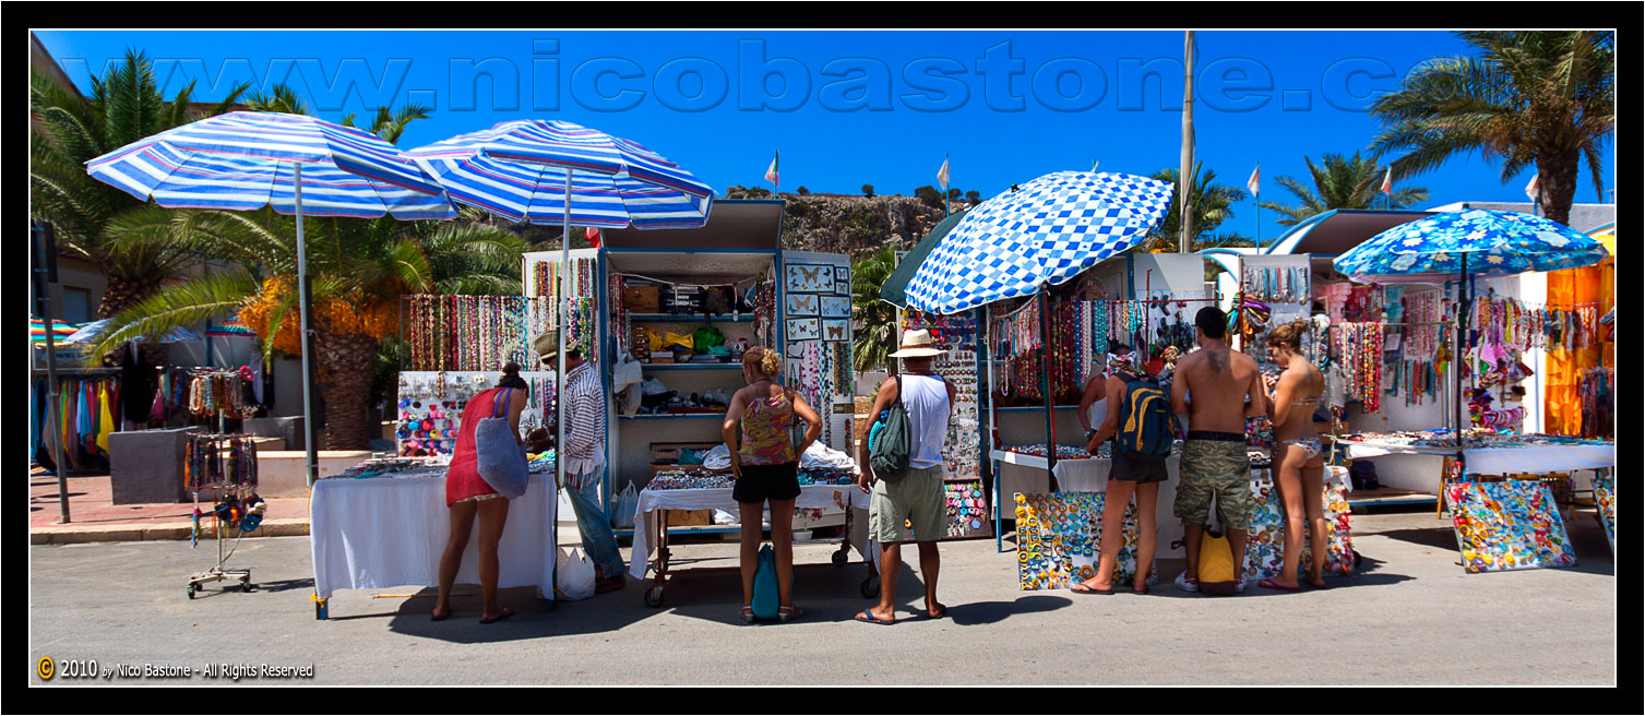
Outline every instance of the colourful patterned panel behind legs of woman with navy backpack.
<svg viewBox="0 0 1645 716">
<path fill-rule="evenodd" d="M 1097 576 L 1102 543 L 1102 492 L 1017 494 L 1017 579 L 1023 591 L 1066 589 Z M 1115 583 L 1137 574 L 1137 502 L 1125 507 L 1125 542 Z M 1148 583 L 1155 581 L 1153 565 Z"/>
</svg>

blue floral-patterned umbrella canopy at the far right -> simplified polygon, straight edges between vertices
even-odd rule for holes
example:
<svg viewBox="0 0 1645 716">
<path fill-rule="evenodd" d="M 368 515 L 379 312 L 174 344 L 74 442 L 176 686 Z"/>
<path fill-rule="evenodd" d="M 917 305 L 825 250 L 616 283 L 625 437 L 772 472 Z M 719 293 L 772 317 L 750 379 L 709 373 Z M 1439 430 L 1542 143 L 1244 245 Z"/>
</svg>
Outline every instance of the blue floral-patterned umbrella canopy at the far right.
<svg viewBox="0 0 1645 716">
<path fill-rule="evenodd" d="M 1517 211 L 1466 209 L 1400 224 L 1331 263 L 1357 281 L 1433 283 L 1464 272 L 1555 272 L 1604 258 L 1599 240 L 1568 225 Z"/>
</svg>

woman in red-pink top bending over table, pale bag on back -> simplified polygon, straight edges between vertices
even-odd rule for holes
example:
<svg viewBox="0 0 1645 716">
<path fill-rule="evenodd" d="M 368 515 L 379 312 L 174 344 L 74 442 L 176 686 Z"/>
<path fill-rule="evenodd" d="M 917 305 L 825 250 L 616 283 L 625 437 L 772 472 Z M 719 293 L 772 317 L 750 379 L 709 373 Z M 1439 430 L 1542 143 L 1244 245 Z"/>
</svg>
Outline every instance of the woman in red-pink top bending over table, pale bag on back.
<svg viewBox="0 0 1645 716">
<path fill-rule="evenodd" d="M 451 466 L 446 469 L 446 507 L 451 509 L 451 537 L 446 538 L 446 553 L 439 558 L 439 599 L 434 602 L 431 617 L 439 622 L 451 617 L 451 584 L 457 581 L 457 570 L 462 566 L 462 550 L 469 546 L 469 533 L 474 532 L 474 518 L 480 522 L 480 596 L 485 607 L 480 612 L 480 624 L 490 624 L 513 616 L 513 611 L 497 604 L 497 543 L 503 537 L 503 525 L 508 522 L 508 499 L 497 494 L 492 486 L 480 477 L 479 456 L 474 451 L 474 428 L 480 420 L 498 415 L 508 416 L 508 426 L 520 439 L 520 411 L 525 410 L 531 390 L 520 377 L 520 365 L 503 365 L 503 377 L 497 387 L 482 390 L 469 398 L 462 410 L 462 430 L 457 433 L 457 448 L 451 454 Z"/>
</svg>

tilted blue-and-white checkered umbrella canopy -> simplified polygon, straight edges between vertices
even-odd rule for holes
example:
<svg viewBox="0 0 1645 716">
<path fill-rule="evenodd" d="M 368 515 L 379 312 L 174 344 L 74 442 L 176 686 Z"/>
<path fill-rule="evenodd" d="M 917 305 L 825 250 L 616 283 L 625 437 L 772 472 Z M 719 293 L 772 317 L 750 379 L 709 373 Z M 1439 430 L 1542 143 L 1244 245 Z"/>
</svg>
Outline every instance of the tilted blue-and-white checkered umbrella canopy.
<svg viewBox="0 0 1645 716">
<path fill-rule="evenodd" d="M 1145 176 L 1045 174 L 966 214 L 908 281 L 908 305 L 948 314 L 1063 283 L 1137 245 L 1170 204 L 1171 184 Z"/>
</svg>

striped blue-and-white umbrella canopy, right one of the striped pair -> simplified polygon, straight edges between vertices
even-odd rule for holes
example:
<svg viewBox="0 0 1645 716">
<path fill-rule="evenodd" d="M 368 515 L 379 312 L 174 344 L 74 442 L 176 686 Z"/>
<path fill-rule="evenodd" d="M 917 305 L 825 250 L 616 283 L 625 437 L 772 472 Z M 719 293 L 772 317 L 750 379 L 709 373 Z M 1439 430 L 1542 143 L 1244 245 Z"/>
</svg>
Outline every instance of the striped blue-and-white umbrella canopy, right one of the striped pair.
<svg viewBox="0 0 1645 716">
<path fill-rule="evenodd" d="M 406 151 L 454 201 L 512 221 L 600 229 L 693 229 L 714 189 L 633 142 L 571 122 L 512 120 Z"/>
</svg>

